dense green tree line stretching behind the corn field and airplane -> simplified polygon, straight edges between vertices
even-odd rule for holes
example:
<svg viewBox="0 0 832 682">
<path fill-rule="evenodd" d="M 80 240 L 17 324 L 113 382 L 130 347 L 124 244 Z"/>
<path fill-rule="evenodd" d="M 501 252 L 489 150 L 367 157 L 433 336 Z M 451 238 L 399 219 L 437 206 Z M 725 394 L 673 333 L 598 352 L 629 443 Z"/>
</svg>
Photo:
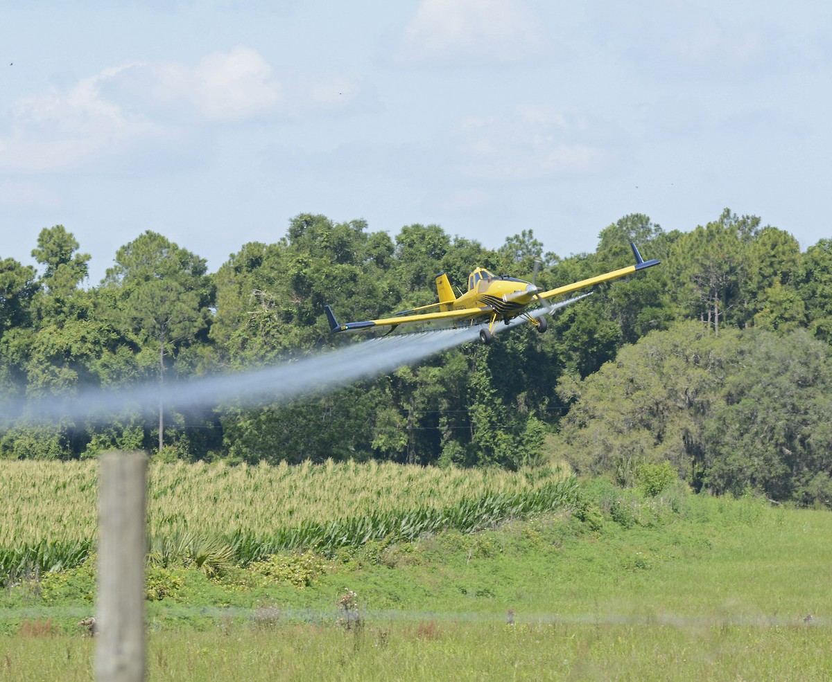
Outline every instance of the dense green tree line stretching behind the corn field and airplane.
<svg viewBox="0 0 832 682">
<path fill-rule="evenodd" d="M 789 233 L 729 209 L 689 232 L 665 231 L 645 215 L 627 215 L 601 230 L 595 252 L 568 258 L 547 252 L 530 229 L 489 249 L 438 225 L 408 225 L 391 235 L 371 231 L 362 220 L 336 223 L 301 214 L 290 220 L 284 238 L 246 243 L 216 272 L 208 272 L 196 253 L 147 231 L 119 248 L 102 282 L 92 286 L 90 257 L 72 233 L 61 225 L 44 228 L 32 249 L 38 267 L 0 260 L 0 393 L 11 405 L 42 395 L 72 396 L 88 386 L 164 386 L 285 361 L 344 342 L 329 334 L 324 303 L 344 319 L 374 319 L 434 302 L 437 272 L 448 272 L 460 286 L 475 266 L 530 279 L 536 259 L 542 262 L 538 284 L 556 287 L 630 264 L 629 241 L 646 258 L 661 259 L 661 267 L 597 287 L 592 297 L 555 313 L 546 334 L 521 326 L 491 346 L 461 346 L 290 405 L 225 404 L 201 413 L 171 406 L 152 418 L 126 412 L 106 425 L 69 419 L 30 424 L 6 410 L 0 456 L 77 459 L 117 447 L 189 460 L 385 459 L 517 469 L 557 452 L 579 469 L 617 471 L 624 478 L 639 461 L 667 459 L 697 486 L 735 489 L 745 481 L 765 488 L 769 483 L 760 475 L 741 467 L 729 467 L 719 478 L 714 464 L 758 457 L 751 451 L 765 440 L 762 432 L 750 439 L 744 420 L 752 417 L 736 406 L 750 400 L 736 397 L 745 395 L 738 386 L 760 385 L 759 377 L 752 381 L 744 374 L 752 371 L 745 361 L 726 362 L 719 370 L 696 366 L 711 373 L 709 390 L 722 397 L 709 394 L 705 402 L 708 409 L 724 405 L 720 415 L 708 413 L 692 430 L 669 431 L 665 422 L 647 420 L 641 444 L 631 443 L 629 450 L 622 450 L 622 439 L 636 440 L 636 431 L 622 427 L 620 438 L 608 439 L 607 455 L 587 454 L 593 429 L 625 419 L 613 416 L 612 401 L 622 410 L 632 405 L 631 396 L 619 400 L 611 387 L 592 391 L 598 370 L 617 358 L 620 364 L 625 346 L 630 353 L 646 352 L 648 338 L 655 344 L 656 338 L 679 337 L 679 345 L 693 348 L 696 328 L 702 339 L 744 357 L 760 356 L 765 346 L 780 364 L 790 349 L 805 344 L 812 350 L 796 354 L 790 366 L 816 356 L 825 368 L 832 341 L 832 240 L 801 253 Z M 649 360 L 634 367 L 651 366 Z M 664 371 L 661 385 L 676 385 L 683 374 Z M 634 380 L 617 377 L 611 386 L 624 390 Z M 802 388 L 793 410 L 810 409 Z M 668 397 L 671 392 L 661 393 L 662 400 L 676 400 L 677 407 L 655 410 L 678 410 L 678 420 L 706 410 L 678 395 Z M 590 395 L 598 411 L 582 418 L 590 414 Z M 651 400 L 659 400 L 653 395 Z M 817 428 L 804 438 L 820 443 Z M 730 439 L 724 435 L 729 433 Z M 656 445 L 666 442 L 676 450 Z M 780 444 L 801 452 L 794 446 L 789 438 Z M 612 462 L 622 452 L 629 455 Z M 780 466 L 789 469 L 782 461 Z M 819 459 L 810 469 L 823 466 Z M 771 487 L 771 494 L 805 498 L 807 486 L 800 483 L 803 493 Z M 812 489 L 820 488 L 816 482 Z"/>
</svg>

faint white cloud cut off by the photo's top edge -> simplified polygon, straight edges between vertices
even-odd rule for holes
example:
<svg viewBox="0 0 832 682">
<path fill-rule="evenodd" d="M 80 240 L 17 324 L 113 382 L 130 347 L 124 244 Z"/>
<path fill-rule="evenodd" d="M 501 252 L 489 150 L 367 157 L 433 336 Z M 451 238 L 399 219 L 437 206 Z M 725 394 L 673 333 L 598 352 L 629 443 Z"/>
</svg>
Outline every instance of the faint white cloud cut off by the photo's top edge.
<svg viewBox="0 0 832 682">
<path fill-rule="evenodd" d="M 518 61 L 546 46 L 541 19 L 522 0 L 422 0 L 405 32 L 405 61 Z"/>
</svg>

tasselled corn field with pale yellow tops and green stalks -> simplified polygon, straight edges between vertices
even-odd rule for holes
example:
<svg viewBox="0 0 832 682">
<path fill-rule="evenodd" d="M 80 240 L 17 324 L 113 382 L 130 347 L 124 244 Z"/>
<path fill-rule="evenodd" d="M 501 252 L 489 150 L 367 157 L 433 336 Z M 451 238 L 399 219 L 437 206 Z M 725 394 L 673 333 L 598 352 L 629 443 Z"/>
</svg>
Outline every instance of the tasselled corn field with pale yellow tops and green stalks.
<svg viewBox="0 0 832 682">
<path fill-rule="evenodd" d="M 98 464 L 7 461 L 0 496 L 0 582 L 77 566 L 95 547 Z M 561 469 L 435 469 L 370 462 L 298 466 L 151 463 L 147 515 L 159 547 L 221 547 L 246 564 L 286 550 L 331 553 L 564 508 L 577 483 Z"/>
</svg>

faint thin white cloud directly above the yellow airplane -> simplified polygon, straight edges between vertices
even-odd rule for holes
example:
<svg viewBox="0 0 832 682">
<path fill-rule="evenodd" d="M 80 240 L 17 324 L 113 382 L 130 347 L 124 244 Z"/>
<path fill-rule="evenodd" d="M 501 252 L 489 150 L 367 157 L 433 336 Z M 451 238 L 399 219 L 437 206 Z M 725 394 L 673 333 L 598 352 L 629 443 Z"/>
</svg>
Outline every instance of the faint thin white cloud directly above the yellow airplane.
<svg viewBox="0 0 832 682">
<path fill-rule="evenodd" d="M 605 154 L 594 136 L 585 121 L 547 109 L 468 116 L 457 130 L 463 173 L 497 180 L 597 170 Z"/>
</svg>

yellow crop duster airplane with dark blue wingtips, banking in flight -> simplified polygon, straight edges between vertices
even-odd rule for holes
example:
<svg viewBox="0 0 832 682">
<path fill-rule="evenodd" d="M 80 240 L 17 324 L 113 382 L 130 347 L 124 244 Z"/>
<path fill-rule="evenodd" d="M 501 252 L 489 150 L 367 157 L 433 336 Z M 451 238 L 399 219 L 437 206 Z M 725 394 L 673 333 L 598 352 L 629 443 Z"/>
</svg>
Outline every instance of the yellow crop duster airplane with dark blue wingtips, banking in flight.
<svg viewBox="0 0 832 682">
<path fill-rule="evenodd" d="M 507 325 L 515 317 L 523 317 L 527 321 L 532 322 L 537 327 L 537 331 L 546 331 L 546 317 L 538 314 L 533 316 L 532 311 L 538 306 L 547 308 L 547 312 L 551 312 L 551 308 L 547 307 L 548 299 L 562 294 L 577 292 L 586 287 L 592 287 L 594 284 L 601 282 L 608 282 L 611 279 L 618 277 L 625 277 L 632 272 L 644 270 L 647 267 L 658 265 L 659 261 L 646 261 L 641 258 L 641 253 L 638 253 L 635 243 L 630 243 L 632 253 L 636 257 L 636 264 L 627 267 L 622 267 L 611 272 L 604 272 L 597 277 L 589 277 L 582 279 L 580 282 L 567 284 L 563 287 L 550 289 L 547 292 L 542 292 L 537 284 L 526 282 L 525 280 L 516 277 L 509 277 L 508 275 L 493 275 L 484 267 L 476 268 L 468 276 L 468 291 L 461 294 L 459 297 L 454 296 L 451 283 L 448 281 L 448 275 L 444 272 L 436 277 L 436 289 L 439 297 L 438 303 L 431 303 L 428 306 L 421 306 L 411 310 L 404 310 L 394 313 L 392 317 L 386 317 L 381 320 L 368 320 L 364 322 L 347 322 L 346 324 L 339 324 L 335 320 L 332 308 L 325 306 L 326 317 L 329 320 L 329 328 L 335 333 L 339 331 L 358 331 L 370 329 L 375 326 L 389 326 L 390 331 L 393 331 L 399 325 L 428 323 L 433 321 L 448 321 L 451 326 L 473 326 L 482 324 L 483 329 L 479 332 L 480 341 L 483 343 L 490 343 L 493 339 L 494 326 L 499 321 L 505 322 Z M 535 263 L 535 276 L 537 277 L 537 263 Z M 562 302 L 557 307 L 562 307 L 568 303 L 578 301 L 582 298 L 576 297 L 568 301 Z M 427 311 L 431 308 L 438 308 L 435 312 L 420 312 Z M 488 326 L 486 326 L 488 325 Z"/>
</svg>

